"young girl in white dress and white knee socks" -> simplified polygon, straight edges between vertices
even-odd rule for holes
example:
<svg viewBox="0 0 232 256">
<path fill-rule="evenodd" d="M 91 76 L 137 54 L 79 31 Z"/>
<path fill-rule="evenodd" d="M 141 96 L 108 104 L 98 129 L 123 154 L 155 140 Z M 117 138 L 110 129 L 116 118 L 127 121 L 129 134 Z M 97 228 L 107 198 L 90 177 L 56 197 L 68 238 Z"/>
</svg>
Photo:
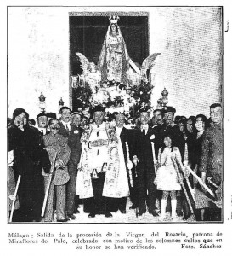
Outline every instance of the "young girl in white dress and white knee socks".
<svg viewBox="0 0 232 256">
<path fill-rule="evenodd" d="M 156 173 L 155 184 L 158 190 L 162 190 L 161 199 L 161 220 L 165 218 L 167 198 L 171 195 L 172 206 L 172 218 L 173 221 L 177 220 L 176 208 L 177 199 L 176 191 L 181 190 L 180 183 L 178 181 L 178 174 L 173 166 L 173 160 L 178 159 L 181 161 L 181 155 L 178 148 L 173 147 L 173 137 L 168 134 L 164 137 L 164 146 L 159 149 L 158 154 L 158 169 Z"/>
</svg>

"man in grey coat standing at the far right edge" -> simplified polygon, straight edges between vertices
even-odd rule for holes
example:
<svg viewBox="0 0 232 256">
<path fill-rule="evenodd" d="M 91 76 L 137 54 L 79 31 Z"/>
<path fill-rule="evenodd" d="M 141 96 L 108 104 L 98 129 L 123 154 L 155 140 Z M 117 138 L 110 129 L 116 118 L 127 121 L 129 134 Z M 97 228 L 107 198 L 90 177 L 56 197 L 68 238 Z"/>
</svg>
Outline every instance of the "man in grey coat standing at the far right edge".
<svg viewBox="0 0 232 256">
<path fill-rule="evenodd" d="M 223 186 L 223 111 L 219 103 L 210 106 L 212 125 L 203 135 L 202 154 L 199 166 L 201 179 L 207 183 L 216 194 L 218 201 L 222 201 Z M 210 204 L 211 216 L 209 220 L 221 220 L 221 209 Z"/>
</svg>

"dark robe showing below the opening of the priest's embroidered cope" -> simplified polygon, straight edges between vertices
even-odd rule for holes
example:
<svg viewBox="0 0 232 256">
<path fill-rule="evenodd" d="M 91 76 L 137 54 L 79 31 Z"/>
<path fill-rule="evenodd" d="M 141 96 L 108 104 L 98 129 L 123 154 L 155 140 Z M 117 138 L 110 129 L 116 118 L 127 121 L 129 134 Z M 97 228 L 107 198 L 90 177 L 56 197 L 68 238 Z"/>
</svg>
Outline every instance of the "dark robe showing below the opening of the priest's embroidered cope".
<svg viewBox="0 0 232 256">
<path fill-rule="evenodd" d="M 105 182 L 105 173 L 99 173 L 99 178 L 92 179 L 93 197 L 83 200 L 84 212 L 95 214 L 105 214 L 110 212 L 110 199 L 102 196 Z"/>
</svg>

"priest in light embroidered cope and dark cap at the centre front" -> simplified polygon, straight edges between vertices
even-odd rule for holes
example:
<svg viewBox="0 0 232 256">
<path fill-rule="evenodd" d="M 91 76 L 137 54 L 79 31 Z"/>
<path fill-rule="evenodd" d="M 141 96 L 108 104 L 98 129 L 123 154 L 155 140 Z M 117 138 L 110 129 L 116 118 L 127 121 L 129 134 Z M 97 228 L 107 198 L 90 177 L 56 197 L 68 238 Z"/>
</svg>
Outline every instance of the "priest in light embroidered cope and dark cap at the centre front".
<svg viewBox="0 0 232 256">
<path fill-rule="evenodd" d="M 115 127 L 104 122 L 104 111 L 102 106 L 93 108 L 94 122 L 82 134 L 82 172 L 77 176 L 76 194 L 84 199 L 89 218 L 96 214 L 111 217 L 109 198 L 129 195 L 128 184 L 118 182 L 119 142 Z"/>
</svg>

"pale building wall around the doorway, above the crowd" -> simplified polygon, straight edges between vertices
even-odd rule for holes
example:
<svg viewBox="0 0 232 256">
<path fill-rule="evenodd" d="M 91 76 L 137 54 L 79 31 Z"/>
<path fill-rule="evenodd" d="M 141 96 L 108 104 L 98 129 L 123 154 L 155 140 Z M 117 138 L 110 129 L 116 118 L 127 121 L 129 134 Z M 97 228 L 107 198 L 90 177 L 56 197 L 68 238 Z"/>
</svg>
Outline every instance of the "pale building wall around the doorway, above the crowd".
<svg viewBox="0 0 232 256">
<path fill-rule="evenodd" d="M 127 8 L 148 11 L 150 54 L 161 53 L 152 70 L 156 106 L 164 87 L 178 114 L 205 113 L 221 100 L 221 16 L 217 8 Z M 70 105 L 69 14 L 124 8 L 26 8 L 8 10 L 8 110 L 25 108 L 31 118 L 46 96 L 47 110 Z M 120 26 L 120 21 L 119 21 Z M 106 32 L 107 28 L 105 28 Z"/>
</svg>

